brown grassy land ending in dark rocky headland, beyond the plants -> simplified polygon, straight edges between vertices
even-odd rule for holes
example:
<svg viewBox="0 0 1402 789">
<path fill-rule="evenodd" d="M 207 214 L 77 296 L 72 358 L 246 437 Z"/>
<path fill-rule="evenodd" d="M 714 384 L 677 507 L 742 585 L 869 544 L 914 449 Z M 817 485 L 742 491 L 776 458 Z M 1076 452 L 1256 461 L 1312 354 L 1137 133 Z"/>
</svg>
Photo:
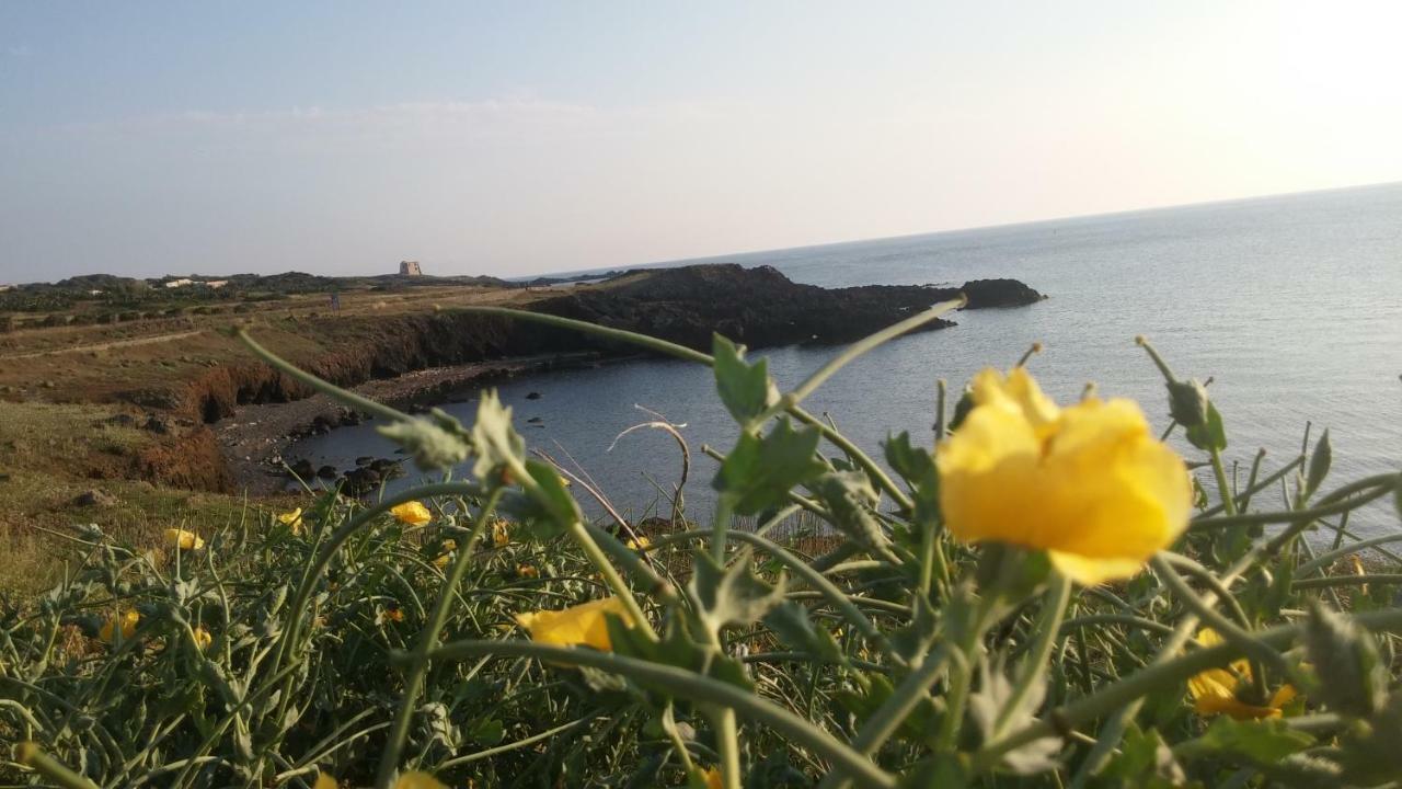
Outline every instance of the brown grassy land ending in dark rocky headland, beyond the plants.
<svg viewBox="0 0 1402 789">
<path fill-rule="evenodd" d="M 50 532 L 74 522 L 102 519 L 136 542 L 172 522 L 237 522 L 248 494 L 280 505 L 287 446 L 362 418 L 254 358 L 227 331 L 233 324 L 334 383 L 423 404 L 499 376 L 638 352 L 464 306 L 550 313 L 708 350 L 712 331 L 750 348 L 841 344 L 959 293 L 965 309 L 1044 298 L 1015 279 L 824 289 L 736 264 L 526 282 L 401 270 L 409 272 L 91 275 L 0 291 L 0 587 L 46 583 L 56 570 Z M 951 326 L 941 319 L 924 329 Z M 373 460 L 297 472 L 372 491 L 394 468 Z"/>
</svg>

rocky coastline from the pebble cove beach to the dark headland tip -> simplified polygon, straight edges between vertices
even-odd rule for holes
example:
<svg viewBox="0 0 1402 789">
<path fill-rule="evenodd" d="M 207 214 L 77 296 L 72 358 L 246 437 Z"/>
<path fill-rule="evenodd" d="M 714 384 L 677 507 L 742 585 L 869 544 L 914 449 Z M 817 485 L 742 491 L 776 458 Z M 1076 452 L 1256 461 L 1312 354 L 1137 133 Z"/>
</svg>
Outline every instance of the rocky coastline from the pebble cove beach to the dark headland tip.
<svg viewBox="0 0 1402 789">
<path fill-rule="evenodd" d="M 716 331 L 751 348 L 765 348 L 850 343 L 960 293 L 969 296 L 965 309 L 1025 306 L 1044 298 L 1015 279 L 972 281 L 959 288 L 866 285 L 827 289 L 795 284 L 771 267 L 708 264 L 627 272 L 536 300 L 526 309 L 641 331 L 697 350 L 709 350 L 711 336 Z M 390 352 L 394 345 L 386 343 L 381 345 L 387 351 L 384 357 L 362 364 L 369 369 L 360 376 L 348 376 L 345 368 L 338 371 L 327 364 L 320 365 L 322 369 L 317 372 L 369 397 L 412 409 L 415 403 L 450 399 L 454 390 L 475 389 L 501 378 L 601 364 L 638 352 L 631 345 L 600 343 L 531 323 L 516 323 L 509 329 L 492 323 L 491 331 L 506 331 L 513 341 L 505 343 L 505 337 L 498 336 L 495 343 L 474 343 L 474 333 L 486 326 L 484 319 L 468 313 L 436 316 L 435 320 L 457 321 L 453 324 L 457 331 L 442 326 L 433 329 L 429 334 L 443 341 L 418 355 L 402 358 L 402 354 Z M 951 326 L 955 321 L 938 319 L 924 330 Z M 537 352 L 513 352 L 513 347 Z M 430 351 L 440 354 L 439 358 L 446 355 L 444 361 L 454 361 L 453 355 L 458 354 L 460 361 L 423 365 L 423 361 L 432 361 Z M 494 355 L 498 358 L 491 358 Z M 381 375 L 376 375 L 377 371 Z M 391 375 L 383 375 L 386 371 Z M 257 390 L 252 396 L 248 393 L 248 389 L 237 392 L 234 403 L 222 403 L 217 409 L 205 406 L 203 411 L 220 414 L 212 420 L 210 428 L 230 483 L 237 490 L 255 494 L 286 486 L 289 466 L 283 456 L 299 438 L 362 418 L 324 394 L 307 396 L 290 386 L 273 387 L 272 392 L 265 386 L 262 396 Z M 341 476 L 355 486 L 358 475 L 367 473 L 362 469 L 370 468 L 369 460 L 350 470 L 303 465 L 296 469 L 296 476 L 306 482 L 313 476 Z"/>
</svg>

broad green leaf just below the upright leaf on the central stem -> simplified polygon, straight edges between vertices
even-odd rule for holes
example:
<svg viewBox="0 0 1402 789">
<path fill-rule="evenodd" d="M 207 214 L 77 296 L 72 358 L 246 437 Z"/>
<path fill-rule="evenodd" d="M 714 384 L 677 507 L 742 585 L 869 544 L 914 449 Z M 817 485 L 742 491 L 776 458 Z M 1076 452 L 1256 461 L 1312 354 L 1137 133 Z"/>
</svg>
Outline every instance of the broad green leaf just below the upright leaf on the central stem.
<svg viewBox="0 0 1402 789">
<path fill-rule="evenodd" d="M 730 498 L 739 515 L 781 507 L 794 486 L 823 473 L 817 439 L 816 430 L 794 430 L 788 418 L 764 437 L 742 432 L 711 486 Z"/>
</svg>

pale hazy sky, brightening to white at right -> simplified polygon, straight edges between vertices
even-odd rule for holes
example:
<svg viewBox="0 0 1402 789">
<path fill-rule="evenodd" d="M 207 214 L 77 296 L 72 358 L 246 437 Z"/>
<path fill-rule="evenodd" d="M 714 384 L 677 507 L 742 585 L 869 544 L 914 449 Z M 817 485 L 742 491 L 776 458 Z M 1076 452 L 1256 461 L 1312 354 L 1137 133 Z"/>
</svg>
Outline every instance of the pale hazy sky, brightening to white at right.
<svg viewBox="0 0 1402 789">
<path fill-rule="evenodd" d="M 1395 0 L 0 0 L 0 282 L 510 275 L 1395 181 L 1399 31 Z"/>
</svg>

